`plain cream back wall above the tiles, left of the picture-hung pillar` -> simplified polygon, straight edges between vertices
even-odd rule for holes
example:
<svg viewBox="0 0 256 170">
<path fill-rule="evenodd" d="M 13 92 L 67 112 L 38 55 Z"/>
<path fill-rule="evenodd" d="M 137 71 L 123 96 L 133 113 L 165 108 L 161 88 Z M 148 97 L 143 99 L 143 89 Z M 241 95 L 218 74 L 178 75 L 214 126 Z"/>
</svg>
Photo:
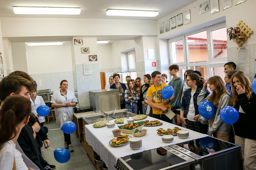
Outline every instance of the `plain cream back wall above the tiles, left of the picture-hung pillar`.
<svg viewBox="0 0 256 170">
<path fill-rule="evenodd" d="M 70 42 L 61 46 L 27 46 L 28 74 L 72 71 Z"/>
</svg>

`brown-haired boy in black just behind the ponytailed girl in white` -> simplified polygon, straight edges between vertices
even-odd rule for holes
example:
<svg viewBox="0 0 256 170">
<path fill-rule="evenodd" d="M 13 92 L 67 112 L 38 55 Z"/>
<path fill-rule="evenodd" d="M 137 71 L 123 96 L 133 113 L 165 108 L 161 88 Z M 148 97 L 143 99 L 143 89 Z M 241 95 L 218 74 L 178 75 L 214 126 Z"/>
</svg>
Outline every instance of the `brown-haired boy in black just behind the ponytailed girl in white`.
<svg viewBox="0 0 256 170">
<path fill-rule="evenodd" d="M 9 95 L 22 95 L 28 99 L 30 99 L 29 91 L 33 91 L 36 87 L 33 85 L 33 83 L 23 77 L 20 76 L 14 76 L 9 75 L 7 77 L 4 77 L 0 82 L 0 100 L 1 105 L 4 103 L 4 100 Z M 1 107 L 0 107 L 1 109 Z M 31 119 L 33 120 L 33 119 Z M 36 121 L 33 120 L 32 124 L 34 124 Z M 54 165 L 49 165 L 44 158 L 42 158 L 40 149 L 36 143 L 35 140 L 35 132 L 32 128 L 32 124 L 28 123 L 26 124 L 20 132 L 20 135 L 18 137 L 17 143 L 19 147 L 16 145 L 16 149 L 19 150 L 22 153 L 22 158 L 26 165 L 29 168 L 33 169 L 40 169 L 40 170 L 50 170 L 54 169 Z M 47 147 L 49 147 L 48 145 Z M 24 156 L 24 154 L 26 156 Z M 33 164 L 31 164 L 30 160 L 27 160 L 29 158 Z M 37 167 L 36 167 L 37 166 Z"/>
</svg>

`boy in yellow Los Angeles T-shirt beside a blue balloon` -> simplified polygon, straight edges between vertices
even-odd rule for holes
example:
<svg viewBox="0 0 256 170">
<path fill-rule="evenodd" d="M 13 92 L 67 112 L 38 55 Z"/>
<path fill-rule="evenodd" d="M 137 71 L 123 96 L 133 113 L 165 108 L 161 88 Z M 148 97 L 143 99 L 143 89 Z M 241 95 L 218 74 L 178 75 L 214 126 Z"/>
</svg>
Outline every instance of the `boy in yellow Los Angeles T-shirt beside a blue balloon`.
<svg viewBox="0 0 256 170">
<path fill-rule="evenodd" d="M 171 109 L 170 102 L 173 100 L 174 95 L 166 100 L 163 99 L 161 92 L 163 87 L 167 86 L 167 84 L 162 83 L 162 74 L 159 71 L 154 71 L 152 72 L 151 77 L 154 81 L 154 85 L 148 88 L 147 101 L 148 105 L 152 107 L 153 117 L 172 123 L 172 120 L 164 113 L 168 112 L 168 108 Z"/>
</svg>

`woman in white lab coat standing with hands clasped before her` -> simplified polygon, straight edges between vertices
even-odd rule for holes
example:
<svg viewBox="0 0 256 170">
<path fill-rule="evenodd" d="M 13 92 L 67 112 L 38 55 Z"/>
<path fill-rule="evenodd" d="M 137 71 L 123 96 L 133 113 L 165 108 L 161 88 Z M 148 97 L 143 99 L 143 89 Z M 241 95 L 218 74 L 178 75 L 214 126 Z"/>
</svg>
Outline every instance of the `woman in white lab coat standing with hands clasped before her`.
<svg viewBox="0 0 256 170">
<path fill-rule="evenodd" d="M 67 80 L 62 80 L 60 83 L 61 90 L 55 91 L 51 100 L 56 122 L 60 123 L 61 127 L 65 122 L 73 120 L 74 106 L 77 106 L 77 98 L 72 91 L 68 90 L 68 87 Z M 64 147 L 69 148 L 69 152 L 74 152 L 70 134 L 64 133 Z"/>
</svg>

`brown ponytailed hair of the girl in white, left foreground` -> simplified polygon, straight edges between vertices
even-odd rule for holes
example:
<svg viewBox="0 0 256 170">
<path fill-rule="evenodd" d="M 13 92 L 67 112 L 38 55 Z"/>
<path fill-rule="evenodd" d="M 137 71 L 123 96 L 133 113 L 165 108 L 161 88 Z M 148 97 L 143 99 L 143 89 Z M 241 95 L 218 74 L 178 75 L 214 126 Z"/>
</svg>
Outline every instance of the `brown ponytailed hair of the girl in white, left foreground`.
<svg viewBox="0 0 256 170">
<path fill-rule="evenodd" d="M 17 134 L 16 126 L 31 112 L 31 102 L 21 95 L 12 95 L 4 100 L 0 121 L 0 149 Z"/>
</svg>

